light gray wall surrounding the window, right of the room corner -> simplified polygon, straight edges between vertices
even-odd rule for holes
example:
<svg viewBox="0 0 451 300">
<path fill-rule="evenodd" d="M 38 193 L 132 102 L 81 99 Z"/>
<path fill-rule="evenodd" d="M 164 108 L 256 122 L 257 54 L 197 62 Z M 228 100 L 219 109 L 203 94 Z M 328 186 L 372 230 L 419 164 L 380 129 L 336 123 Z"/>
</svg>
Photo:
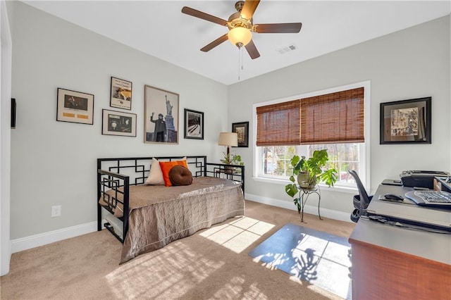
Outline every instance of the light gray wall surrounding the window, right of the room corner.
<svg viewBox="0 0 451 300">
<path fill-rule="evenodd" d="M 299 49 L 302 49 L 299 48 Z M 385 178 L 399 178 L 402 170 L 451 170 L 450 165 L 450 16 L 332 54 L 292 65 L 229 87 L 230 122 L 249 120 L 259 102 L 371 80 L 371 191 Z M 432 96 L 432 144 L 379 144 L 381 102 Z M 240 109 L 236 109 L 240 107 Z M 254 132 L 250 133 L 254 139 Z M 252 161 L 253 148 L 241 149 Z M 268 203 L 292 205 L 283 185 L 252 179 L 247 165 L 248 198 L 265 196 Z M 323 192 L 321 206 L 350 212 L 351 195 Z"/>
</svg>

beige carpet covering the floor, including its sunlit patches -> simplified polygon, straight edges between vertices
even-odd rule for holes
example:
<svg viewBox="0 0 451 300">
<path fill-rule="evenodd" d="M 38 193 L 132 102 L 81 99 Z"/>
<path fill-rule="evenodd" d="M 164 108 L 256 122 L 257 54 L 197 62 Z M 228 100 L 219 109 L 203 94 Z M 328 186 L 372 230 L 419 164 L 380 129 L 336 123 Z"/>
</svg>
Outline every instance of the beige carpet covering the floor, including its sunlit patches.
<svg viewBox="0 0 451 300">
<path fill-rule="evenodd" d="M 106 230 L 13 254 L 1 299 L 340 299 L 249 251 L 287 223 L 349 237 L 353 223 L 246 201 L 233 218 L 118 265 L 121 243 Z"/>
</svg>

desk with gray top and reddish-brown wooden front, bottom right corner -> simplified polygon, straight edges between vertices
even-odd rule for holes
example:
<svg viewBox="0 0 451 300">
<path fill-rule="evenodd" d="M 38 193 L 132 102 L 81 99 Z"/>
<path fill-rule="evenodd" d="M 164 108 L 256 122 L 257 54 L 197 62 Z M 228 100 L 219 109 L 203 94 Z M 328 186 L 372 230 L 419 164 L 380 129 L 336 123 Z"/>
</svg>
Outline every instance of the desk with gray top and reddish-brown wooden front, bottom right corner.
<svg viewBox="0 0 451 300">
<path fill-rule="evenodd" d="M 383 192 L 379 187 L 373 199 Z M 451 299 L 451 235 L 361 218 L 349 241 L 353 300 Z"/>
</svg>

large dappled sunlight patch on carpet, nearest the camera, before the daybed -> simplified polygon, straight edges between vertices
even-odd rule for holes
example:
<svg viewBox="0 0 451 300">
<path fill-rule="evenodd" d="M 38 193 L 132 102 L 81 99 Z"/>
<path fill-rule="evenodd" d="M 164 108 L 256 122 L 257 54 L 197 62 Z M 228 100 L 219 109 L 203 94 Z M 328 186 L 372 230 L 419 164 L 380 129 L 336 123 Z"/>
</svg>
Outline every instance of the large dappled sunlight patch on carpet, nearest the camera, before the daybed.
<svg viewBox="0 0 451 300">
<path fill-rule="evenodd" d="M 106 275 L 106 280 L 117 299 L 172 299 L 206 280 L 225 263 L 199 256 L 183 242 L 173 242 L 133 258 Z"/>
</svg>

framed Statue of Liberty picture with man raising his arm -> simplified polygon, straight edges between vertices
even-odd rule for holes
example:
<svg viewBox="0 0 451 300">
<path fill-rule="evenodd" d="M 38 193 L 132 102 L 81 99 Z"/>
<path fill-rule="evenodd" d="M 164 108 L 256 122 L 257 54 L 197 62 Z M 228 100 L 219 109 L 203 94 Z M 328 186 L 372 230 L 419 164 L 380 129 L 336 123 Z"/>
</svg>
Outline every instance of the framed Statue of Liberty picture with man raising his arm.
<svg viewBox="0 0 451 300">
<path fill-rule="evenodd" d="M 144 143 L 178 144 L 178 98 L 144 85 Z"/>
</svg>

